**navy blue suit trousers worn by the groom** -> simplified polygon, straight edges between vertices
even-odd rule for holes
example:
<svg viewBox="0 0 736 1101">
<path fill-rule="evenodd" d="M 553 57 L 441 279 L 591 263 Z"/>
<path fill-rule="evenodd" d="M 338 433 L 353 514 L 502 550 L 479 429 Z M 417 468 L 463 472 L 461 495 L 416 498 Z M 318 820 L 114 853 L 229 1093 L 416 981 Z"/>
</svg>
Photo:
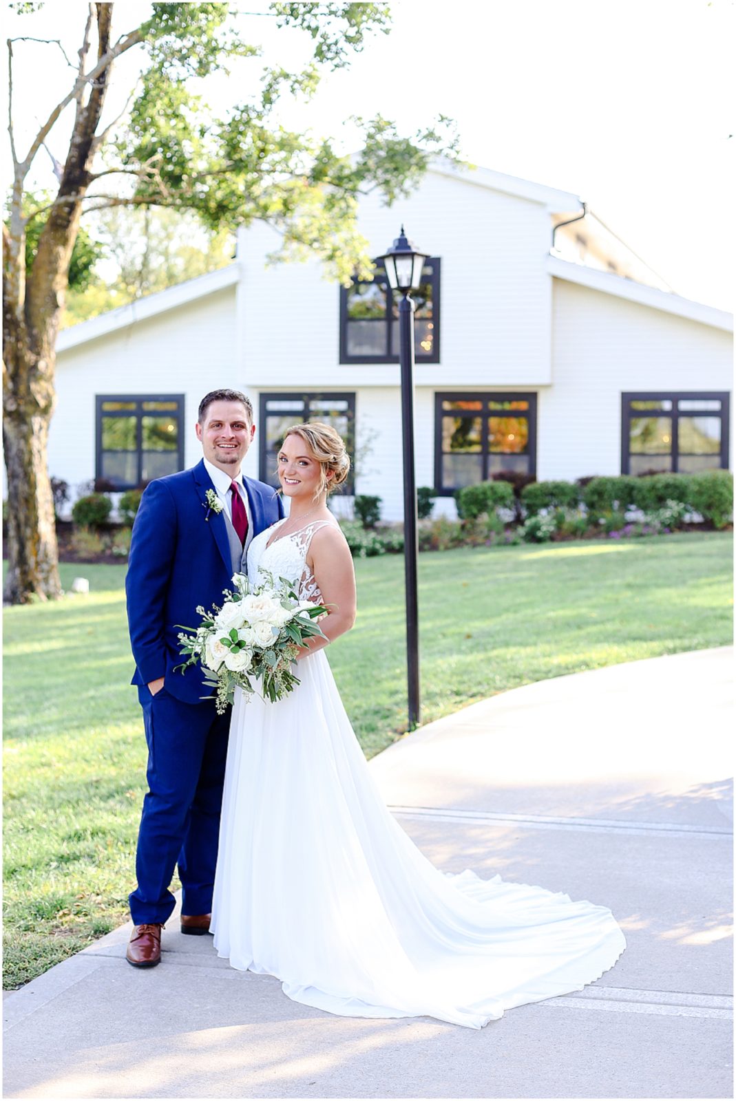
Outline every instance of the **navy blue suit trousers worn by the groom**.
<svg viewBox="0 0 736 1101">
<path fill-rule="evenodd" d="M 182 913 L 212 911 L 223 783 L 230 726 L 214 700 L 183 704 L 166 688 L 139 689 L 149 749 L 148 794 L 138 835 L 130 895 L 133 925 L 165 922 L 174 909 L 169 890 L 178 863 Z"/>
</svg>

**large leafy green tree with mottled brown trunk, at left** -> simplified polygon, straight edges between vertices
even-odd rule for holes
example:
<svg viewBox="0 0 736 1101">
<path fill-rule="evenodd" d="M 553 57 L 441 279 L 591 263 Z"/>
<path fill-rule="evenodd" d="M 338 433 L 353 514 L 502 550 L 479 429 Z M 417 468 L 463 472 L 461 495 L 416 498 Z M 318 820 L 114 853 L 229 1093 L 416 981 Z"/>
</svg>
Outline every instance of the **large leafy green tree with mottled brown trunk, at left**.
<svg viewBox="0 0 736 1101">
<path fill-rule="evenodd" d="M 18 10 L 33 13 L 37 7 L 24 2 Z M 418 184 L 432 155 L 457 152 L 444 118 L 411 138 L 383 118 L 356 119 L 362 148 L 345 157 L 332 141 L 290 131 L 275 117 L 281 97 L 311 96 L 321 74 L 347 65 L 369 35 L 388 32 L 387 3 L 271 3 L 279 28 L 300 30 L 311 40 L 311 59 L 297 73 L 259 59 L 258 48 L 240 37 L 227 3 L 154 3 L 150 19 L 117 39 L 115 9 L 113 3 L 89 6 L 78 62 L 72 65 L 65 55 L 76 70 L 72 87 L 51 107 L 25 155 L 14 137 L 14 42 L 8 43 L 13 183 L 3 226 L 3 449 L 6 597 L 12 602 L 59 592 L 46 453 L 56 337 L 83 214 L 163 206 L 195 211 L 214 230 L 261 219 L 281 233 L 274 259 L 317 255 L 347 283 L 354 271 L 367 277 L 372 270 L 356 228 L 358 196 L 378 189 L 390 204 Z M 143 53 L 140 87 L 122 116 L 102 127 L 115 63 L 132 48 Z M 260 66 L 257 90 L 225 118 L 213 119 L 190 78 L 228 72 L 238 58 Z M 57 194 L 51 204 L 29 210 L 29 172 L 67 107 L 74 121 Z M 26 239 L 36 219 L 43 225 L 29 266 Z"/>
</svg>

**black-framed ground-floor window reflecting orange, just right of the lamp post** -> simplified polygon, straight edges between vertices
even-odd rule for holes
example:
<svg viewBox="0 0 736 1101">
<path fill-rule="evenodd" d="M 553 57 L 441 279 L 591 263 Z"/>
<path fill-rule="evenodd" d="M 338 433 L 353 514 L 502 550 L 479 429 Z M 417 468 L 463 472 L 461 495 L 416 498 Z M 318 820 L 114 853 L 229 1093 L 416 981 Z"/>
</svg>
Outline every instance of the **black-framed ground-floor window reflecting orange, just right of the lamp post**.
<svg viewBox="0 0 736 1101">
<path fill-rule="evenodd" d="M 435 394 L 434 488 L 450 497 L 500 470 L 537 472 L 537 394 Z"/>
</svg>

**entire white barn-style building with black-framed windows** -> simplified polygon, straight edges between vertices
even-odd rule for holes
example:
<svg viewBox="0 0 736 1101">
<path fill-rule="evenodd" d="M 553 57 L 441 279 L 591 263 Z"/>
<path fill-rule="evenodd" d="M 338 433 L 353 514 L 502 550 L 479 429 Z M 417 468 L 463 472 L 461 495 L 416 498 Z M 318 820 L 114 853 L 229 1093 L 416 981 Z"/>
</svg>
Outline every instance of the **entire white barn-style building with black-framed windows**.
<svg viewBox="0 0 736 1101">
<path fill-rule="evenodd" d="M 730 466 L 732 316 L 674 294 L 575 195 L 437 163 L 392 208 L 361 201 L 374 255 L 402 221 L 431 252 L 415 315 L 415 461 L 435 513 L 500 470 L 546 480 Z M 247 475 L 272 481 L 283 428 L 331 418 L 355 442 L 355 490 L 400 519 L 385 281 L 345 291 L 317 263 L 267 266 L 277 244 L 268 227 L 241 230 L 229 266 L 61 334 L 52 476 L 121 490 L 191 466 L 199 399 L 232 386 L 256 410 Z"/>
</svg>

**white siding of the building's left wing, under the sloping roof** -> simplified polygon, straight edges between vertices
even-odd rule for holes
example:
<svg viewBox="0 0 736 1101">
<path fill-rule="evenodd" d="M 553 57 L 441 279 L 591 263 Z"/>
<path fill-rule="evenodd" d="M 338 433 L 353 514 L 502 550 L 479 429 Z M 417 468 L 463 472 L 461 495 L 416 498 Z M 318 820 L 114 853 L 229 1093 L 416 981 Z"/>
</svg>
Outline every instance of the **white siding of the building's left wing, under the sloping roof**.
<svg viewBox="0 0 736 1101">
<path fill-rule="evenodd" d="M 208 390 L 241 386 L 235 356 L 235 287 L 59 352 L 48 470 L 74 488 L 95 477 L 97 394 L 184 394 L 184 461 L 202 457 L 194 434 Z"/>
</svg>

